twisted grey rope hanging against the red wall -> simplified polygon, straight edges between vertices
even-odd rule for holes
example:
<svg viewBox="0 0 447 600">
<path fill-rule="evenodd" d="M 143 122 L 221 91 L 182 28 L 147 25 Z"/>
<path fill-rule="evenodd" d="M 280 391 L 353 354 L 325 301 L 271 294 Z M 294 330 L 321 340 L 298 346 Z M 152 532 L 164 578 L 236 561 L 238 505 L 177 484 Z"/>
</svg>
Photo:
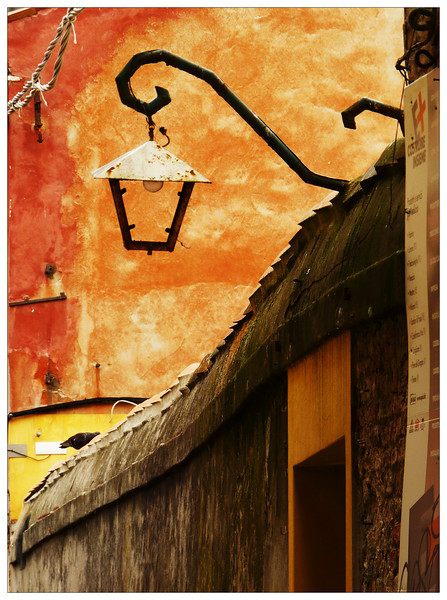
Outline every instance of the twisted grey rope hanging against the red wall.
<svg viewBox="0 0 447 600">
<path fill-rule="evenodd" d="M 50 42 L 47 51 L 44 54 L 42 62 L 37 66 L 36 70 L 31 76 L 31 79 L 25 83 L 23 89 L 18 94 L 16 94 L 12 100 L 8 102 L 8 115 L 26 106 L 31 101 L 31 99 L 37 91 L 47 92 L 48 90 L 51 90 L 54 87 L 59 75 L 59 71 L 62 67 L 62 58 L 68 46 L 68 40 L 70 37 L 71 30 L 73 29 L 74 31 L 73 23 L 75 22 L 78 14 L 81 13 L 83 10 L 84 8 L 68 9 L 67 14 L 63 17 L 59 27 L 57 28 L 54 40 Z M 62 40 L 60 43 L 59 54 L 57 56 L 56 62 L 54 63 L 53 77 L 48 83 L 41 84 L 40 73 L 49 61 L 50 56 L 61 37 Z"/>
</svg>

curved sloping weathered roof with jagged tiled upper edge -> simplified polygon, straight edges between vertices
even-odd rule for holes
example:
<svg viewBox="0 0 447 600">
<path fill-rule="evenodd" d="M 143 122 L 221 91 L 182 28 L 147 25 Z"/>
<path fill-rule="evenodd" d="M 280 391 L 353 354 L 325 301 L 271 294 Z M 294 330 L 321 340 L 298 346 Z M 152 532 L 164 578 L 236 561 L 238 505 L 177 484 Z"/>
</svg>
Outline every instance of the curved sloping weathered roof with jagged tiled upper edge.
<svg viewBox="0 0 447 600">
<path fill-rule="evenodd" d="M 23 551 L 185 460 L 326 338 L 405 306 L 404 140 L 300 222 L 217 348 L 30 490 Z M 15 551 L 12 553 L 15 560 Z"/>
</svg>

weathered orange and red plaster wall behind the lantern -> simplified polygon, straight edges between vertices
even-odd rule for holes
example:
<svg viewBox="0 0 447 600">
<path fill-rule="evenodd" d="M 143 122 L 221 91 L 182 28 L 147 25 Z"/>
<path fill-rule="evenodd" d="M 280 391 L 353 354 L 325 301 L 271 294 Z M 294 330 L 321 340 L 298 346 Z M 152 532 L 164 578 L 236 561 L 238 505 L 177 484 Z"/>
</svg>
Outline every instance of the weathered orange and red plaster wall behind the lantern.
<svg viewBox="0 0 447 600">
<path fill-rule="evenodd" d="M 43 9 L 9 24 L 8 63 L 21 77 L 9 98 L 65 13 Z M 397 8 L 85 9 L 77 44 L 71 38 L 44 94 L 44 142 L 32 103 L 9 117 L 8 299 L 67 294 L 9 309 L 10 410 L 149 397 L 169 386 L 217 345 L 300 217 L 328 193 L 302 183 L 204 82 L 145 66 L 132 78 L 135 94 L 149 101 L 155 85 L 170 91 L 157 125 L 168 130 L 169 150 L 213 183 L 194 189 L 184 246 L 127 252 L 108 184 L 91 172 L 147 140 L 144 117 L 121 104 L 114 81 L 134 54 L 166 48 L 211 69 L 310 169 L 349 179 L 394 138 L 396 122 L 365 113 L 356 131 L 345 130 L 340 112 L 363 96 L 399 105 L 402 22 Z M 163 239 L 167 187 L 134 196 L 136 239 Z M 52 280 L 47 263 L 57 267 Z M 57 392 L 43 383 L 48 367 Z"/>
</svg>

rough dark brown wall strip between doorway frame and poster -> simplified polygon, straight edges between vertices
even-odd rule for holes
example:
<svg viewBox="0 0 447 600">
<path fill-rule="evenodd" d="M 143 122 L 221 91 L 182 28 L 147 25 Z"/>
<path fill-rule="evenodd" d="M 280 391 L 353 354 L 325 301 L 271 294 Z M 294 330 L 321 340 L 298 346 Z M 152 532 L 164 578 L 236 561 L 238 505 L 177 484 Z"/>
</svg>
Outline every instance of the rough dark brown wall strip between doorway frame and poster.
<svg viewBox="0 0 447 600">
<path fill-rule="evenodd" d="M 352 333 L 356 591 L 398 589 L 407 357 L 403 312 Z"/>
</svg>

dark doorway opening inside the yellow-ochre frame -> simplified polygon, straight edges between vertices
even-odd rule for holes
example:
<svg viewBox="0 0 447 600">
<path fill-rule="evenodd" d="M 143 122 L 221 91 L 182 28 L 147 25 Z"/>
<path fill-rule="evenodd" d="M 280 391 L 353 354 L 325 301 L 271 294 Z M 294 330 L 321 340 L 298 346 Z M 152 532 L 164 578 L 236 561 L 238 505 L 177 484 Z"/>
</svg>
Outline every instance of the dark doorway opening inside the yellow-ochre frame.
<svg viewBox="0 0 447 600">
<path fill-rule="evenodd" d="M 346 591 L 344 438 L 294 467 L 295 592 Z"/>
</svg>

